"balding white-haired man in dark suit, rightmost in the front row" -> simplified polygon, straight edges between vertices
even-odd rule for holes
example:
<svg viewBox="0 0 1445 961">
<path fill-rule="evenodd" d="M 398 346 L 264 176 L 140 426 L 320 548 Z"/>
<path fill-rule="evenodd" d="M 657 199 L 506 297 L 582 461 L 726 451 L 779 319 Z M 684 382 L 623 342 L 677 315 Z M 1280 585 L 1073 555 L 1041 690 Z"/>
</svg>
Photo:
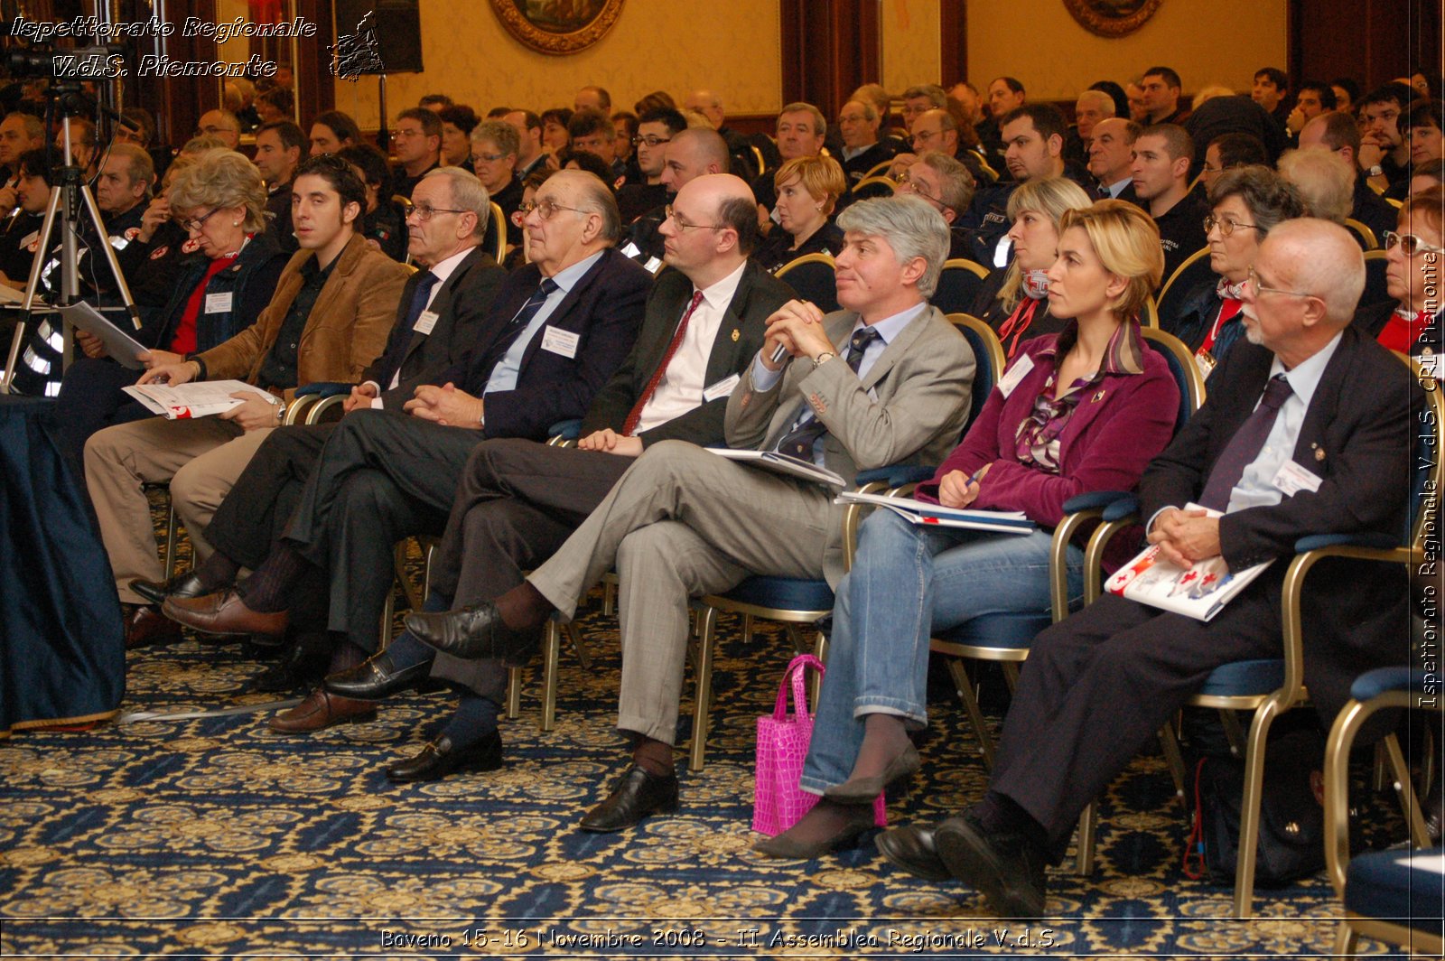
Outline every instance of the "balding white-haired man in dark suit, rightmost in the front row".
<svg viewBox="0 0 1445 961">
<path fill-rule="evenodd" d="M 884 834 L 889 860 L 962 880 L 1004 918 L 1039 918 L 1045 864 L 1139 746 L 1215 668 L 1282 656 L 1279 598 L 1296 539 L 1397 543 L 1410 412 L 1423 397 L 1351 324 L 1363 289 L 1364 257 L 1344 227 L 1300 218 L 1269 233 L 1243 293 L 1248 344 L 1215 370 L 1204 406 L 1146 470 L 1139 501 L 1149 540 L 1173 564 L 1273 565 L 1208 621 L 1105 594 L 1040 633 L 981 802 L 935 829 Z M 1325 723 L 1358 673 L 1405 662 L 1406 597 L 1403 572 L 1361 577 L 1342 561 L 1311 571 L 1303 681 Z"/>
</svg>

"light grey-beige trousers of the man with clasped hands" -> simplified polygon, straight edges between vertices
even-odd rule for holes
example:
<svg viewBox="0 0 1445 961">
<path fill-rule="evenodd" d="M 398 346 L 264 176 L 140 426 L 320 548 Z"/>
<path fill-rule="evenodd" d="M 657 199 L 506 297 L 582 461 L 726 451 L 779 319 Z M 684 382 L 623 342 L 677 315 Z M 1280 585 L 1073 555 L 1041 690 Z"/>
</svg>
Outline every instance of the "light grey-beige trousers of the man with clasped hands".
<svg viewBox="0 0 1445 961">
<path fill-rule="evenodd" d="M 832 491 L 678 441 L 650 447 L 527 578 L 564 617 L 614 565 L 623 682 L 617 725 L 670 744 L 688 598 L 753 574 L 822 579 Z"/>
</svg>

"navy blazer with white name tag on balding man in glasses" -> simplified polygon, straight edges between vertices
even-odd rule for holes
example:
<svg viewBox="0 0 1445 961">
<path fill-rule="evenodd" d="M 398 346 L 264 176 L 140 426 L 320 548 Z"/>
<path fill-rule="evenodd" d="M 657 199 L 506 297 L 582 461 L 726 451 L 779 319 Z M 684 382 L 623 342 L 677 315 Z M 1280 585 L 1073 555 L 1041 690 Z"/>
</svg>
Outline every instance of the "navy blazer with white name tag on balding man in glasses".
<svg viewBox="0 0 1445 961">
<path fill-rule="evenodd" d="M 490 337 L 470 351 L 461 376 L 447 380 L 483 396 L 493 369 L 506 354 L 507 325 L 540 283 L 542 272 L 533 263 L 507 276 L 493 305 L 501 322 L 491 324 Z M 650 273 L 616 249 L 604 250 L 527 344 L 516 389 L 486 395 L 486 435 L 546 439 L 553 423 L 584 416 L 637 340 L 650 288 Z M 549 327 L 578 335 L 572 357 L 542 350 Z"/>
</svg>

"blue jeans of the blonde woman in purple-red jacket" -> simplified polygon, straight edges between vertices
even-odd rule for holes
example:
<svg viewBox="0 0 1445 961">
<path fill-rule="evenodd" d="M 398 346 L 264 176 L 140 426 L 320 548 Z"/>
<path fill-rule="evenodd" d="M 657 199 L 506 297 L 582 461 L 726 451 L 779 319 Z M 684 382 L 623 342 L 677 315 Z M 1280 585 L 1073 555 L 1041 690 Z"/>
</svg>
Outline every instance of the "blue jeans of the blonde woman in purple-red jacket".
<svg viewBox="0 0 1445 961">
<path fill-rule="evenodd" d="M 812 743 L 801 779 L 822 793 L 853 773 L 864 717 L 928 721 L 928 642 L 974 617 L 1049 610 L 1049 532 L 922 527 L 876 510 L 838 582 Z M 1084 553 L 1069 546 L 1069 600 L 1082 592 Z"/>
</svg>

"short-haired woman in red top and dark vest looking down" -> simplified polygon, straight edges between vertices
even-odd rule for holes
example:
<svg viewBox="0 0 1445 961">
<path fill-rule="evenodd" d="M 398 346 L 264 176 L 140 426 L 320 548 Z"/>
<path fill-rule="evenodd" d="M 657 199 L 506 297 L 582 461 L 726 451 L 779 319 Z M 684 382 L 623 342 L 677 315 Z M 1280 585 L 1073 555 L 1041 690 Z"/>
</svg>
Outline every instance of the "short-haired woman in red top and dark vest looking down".
<svg viewBox="0 0 1445 961">
<path fill-rule="evenodd" d="M 254 324 L 289 259 L 266 231 L 266 185 L 240 153 L 217 150 L 184 168 L 166 199 L 185 238 L 169 303 L 136 334 L 153 360 L 210 350 Z M 168 253 L 155 247 L 150 257 Z M 78 461 L 95 431 L 152 415 L 121 390 L 136 383 L 134 370 L 107 357 L 98 338 L 77 334 L 75 342 L 85 357 L 65 371 L 58 410 L 65 451 Z"/>
</svg>

